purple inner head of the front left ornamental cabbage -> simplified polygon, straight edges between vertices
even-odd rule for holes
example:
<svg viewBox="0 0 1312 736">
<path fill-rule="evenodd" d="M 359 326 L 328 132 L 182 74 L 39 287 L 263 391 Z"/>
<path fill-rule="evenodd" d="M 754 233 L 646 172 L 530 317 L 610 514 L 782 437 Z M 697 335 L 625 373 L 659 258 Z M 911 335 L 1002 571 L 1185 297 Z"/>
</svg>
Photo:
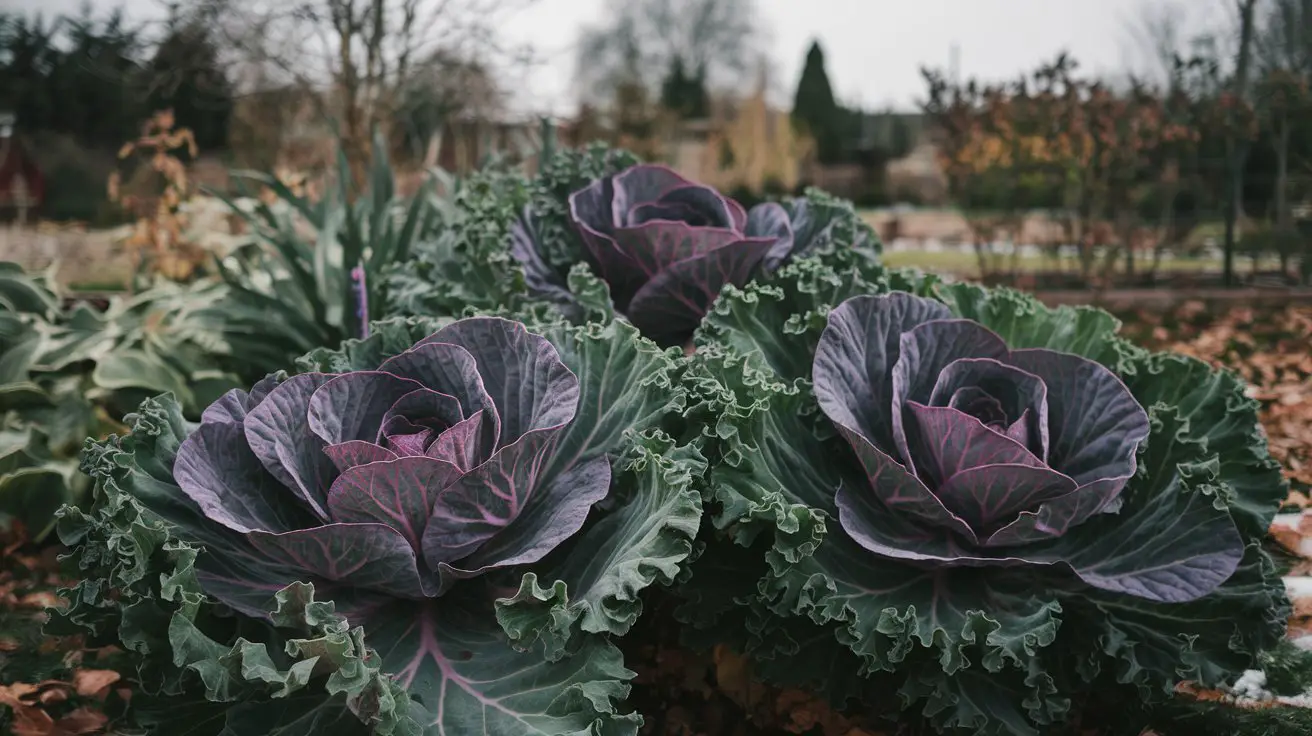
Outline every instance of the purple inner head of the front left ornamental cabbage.
<svg viewBox="0 0 1312 736">
<path fill-rule="evenodd" d="M 283 584 L 422 600 L 537 562 L 583 526 L 607 460 L 539 483 L 577 403 L 550 342 L 466 319 L 378 370 L 228 392 L 182 442 L 174 478 Z M 253 609 L 239 581 L 206 588 Z"/>
</svg>

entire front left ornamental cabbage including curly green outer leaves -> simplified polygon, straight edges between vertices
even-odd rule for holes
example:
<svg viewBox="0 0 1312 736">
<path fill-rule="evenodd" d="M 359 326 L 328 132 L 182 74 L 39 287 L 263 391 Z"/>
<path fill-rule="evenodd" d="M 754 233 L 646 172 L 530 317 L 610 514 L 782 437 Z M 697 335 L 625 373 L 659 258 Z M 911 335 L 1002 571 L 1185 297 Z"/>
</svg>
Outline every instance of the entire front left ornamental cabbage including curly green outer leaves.
<svg viewBox="0 0 1312 736">
<path fill-rule="evenodd" d="M 138 652 L 152 693 L 222 703 L 134 698 L 142 718 L 636 733 L 609 636 L 701 518 L 705 460 L 663 430 L 676 361 L 619 321 L 437 327 L 375 323 L 199 425 L 147 400 L 89 445 L 100 500 L 60 522 L 84 577 L 62 631 Z"/>
</svg>

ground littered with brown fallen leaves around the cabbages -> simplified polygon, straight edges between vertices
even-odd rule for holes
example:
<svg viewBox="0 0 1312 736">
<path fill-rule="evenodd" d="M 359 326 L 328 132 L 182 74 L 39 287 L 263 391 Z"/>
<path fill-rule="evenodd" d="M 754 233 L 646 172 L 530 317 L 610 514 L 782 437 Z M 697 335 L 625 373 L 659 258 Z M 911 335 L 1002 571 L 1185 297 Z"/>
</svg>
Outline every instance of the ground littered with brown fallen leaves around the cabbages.
<svg viewBox="0 0 1312 736">
<path fill-rule="evenodd" d="M 1138 310 L 1120 314 L 1126 332 L 1136 341 L 1172 349 L 1239 370 L 1253 382 L 1263 403 L 1262 421 L 1273 453 L 1287 468 L 1294 487 L 1287 514 L 1309 506 L 1312 492 L 1312 308 L 1286 307 L 1254 311 L 1232 307 L 1211 311 L 1185 304 L 1168 312 Z M 1308 518 L 1312 518 L 1309 512 Z M 1277 541 L 1287 556 L 1287 573 L 1312 581 L 1312 523 L 1302 530 L 1287 523 Z M 18 531 L 17 534 L 21 534 Z M 20 535 L 4 541 L 0 571 L 0 703 L 10 706 L 0 720 L 16 736 L 96 733 L 122 723 L 131 699 L 131 659 L 114 648 L 88 649 L 81 638 L 47 638 L 39 632 L 42 607 L 59 605 L 56 596 L 71 580 L 60 575 L 58 544 L 33 546 Z M 1299 555 L 1299 551 L 1303 555 Z M 626 661 L 638 673 L 632 707 L 648 714 L 643 733 L 652 736 L 892 736 L 921 733 L 921 727 L 897 727 L 878 719 L 853 719 L 833 710 L 806 689 L 781 689 L 752 677 L 750 661 L 726 647 L 687 648 L 668 623 L 678 606 L 668 596 L 648 601 L 644 624 L 626 639 Z M 1295 598 L 1291 639 L 1312 648 L 1312 590 Z M 1305 666 L 1305 665 L 1304 665 Z M 1307 682 L 1312 672 L 1292 672 Z M 1287 686 L 1288 687 L 1288 686 Z M 1138 714 L 1144 733 L 1162 736 L 1303 733 L 1309 715 L 1277 703 L 1231 705 L 1223 693 L 1185 689 L 1170 707 Z M 1198 702 L 1195 702 L 1198 701 Z M 1122 714 L 1123 715 L 1123 714 Z M 1139 733 L 1132 719 L 1093 733 Z M 1128 731 L 1127 731 L 1128 729 Z"/>
</svg>

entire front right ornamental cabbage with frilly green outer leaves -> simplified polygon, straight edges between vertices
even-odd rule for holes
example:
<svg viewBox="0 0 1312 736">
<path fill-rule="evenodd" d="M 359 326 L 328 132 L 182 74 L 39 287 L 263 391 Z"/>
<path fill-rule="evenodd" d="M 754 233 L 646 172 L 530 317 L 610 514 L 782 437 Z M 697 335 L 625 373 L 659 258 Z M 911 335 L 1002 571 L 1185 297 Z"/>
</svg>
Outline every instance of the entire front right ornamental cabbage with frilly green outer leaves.
<svg viewBox="0 0 1312 736">
<path fill-rule="evenodd" d="M 766 678 L 865 707 L 892 686 L 971 733 L 1253 666 L 1287 613 L 1260 546 L 1286 488 L 1256 404 L 1118 327 L 816 264 L 727 290 L 693 412 L 715 438 L 715 526 L 757 562 L 707 551 L 685 619 L 735 622 Z"/>
</svg>

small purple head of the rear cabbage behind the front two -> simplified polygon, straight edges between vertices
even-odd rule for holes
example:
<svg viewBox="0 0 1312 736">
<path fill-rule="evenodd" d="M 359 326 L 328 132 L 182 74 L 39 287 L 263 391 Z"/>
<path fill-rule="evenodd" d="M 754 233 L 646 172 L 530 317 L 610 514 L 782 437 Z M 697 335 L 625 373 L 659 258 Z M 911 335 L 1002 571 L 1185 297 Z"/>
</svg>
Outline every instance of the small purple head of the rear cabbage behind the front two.
<svg viewBox="0 0 1312 736">
<path fill-rule="evenodd" d="M 686 340 L 720 290 L 792 249 L 787 211 L 750 213 L 661 165 L 630 167 L 569 195 L 569 216 L 615 308 L 659 344 Z"/>
</svg>

